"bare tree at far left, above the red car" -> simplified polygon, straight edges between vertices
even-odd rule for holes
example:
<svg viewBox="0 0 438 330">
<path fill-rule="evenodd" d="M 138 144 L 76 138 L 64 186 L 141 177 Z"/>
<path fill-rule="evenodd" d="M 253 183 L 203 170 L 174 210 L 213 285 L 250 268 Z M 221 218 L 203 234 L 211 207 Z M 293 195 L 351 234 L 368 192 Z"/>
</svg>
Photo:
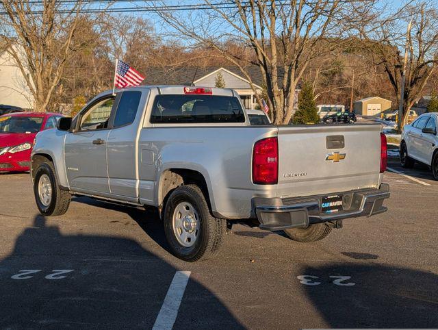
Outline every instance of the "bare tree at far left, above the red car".
<svg viewBox="0 0 438 330">
<path fill-rule="evenodd" d="M 72 45 L 81 2 L 3 0 L 0 38 L 25 78 L 34 109 L 56 110 L 64 68 L 77 50 Z"/>
</svg>

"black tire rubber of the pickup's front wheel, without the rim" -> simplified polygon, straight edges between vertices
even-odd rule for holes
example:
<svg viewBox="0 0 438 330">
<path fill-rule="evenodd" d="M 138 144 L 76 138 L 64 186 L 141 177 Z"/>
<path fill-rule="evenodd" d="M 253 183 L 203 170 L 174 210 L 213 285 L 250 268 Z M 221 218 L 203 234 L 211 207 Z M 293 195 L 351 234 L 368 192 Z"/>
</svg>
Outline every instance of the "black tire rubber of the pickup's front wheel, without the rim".
<svg viewBox="0 0 438 330">
<path fill-rule="evenodd" d="M 49 205 L 42 203 L 40 194 L 38 193 L 38 184 L 40 183 L 42 175 L 47 175 L 51 184 L 51 199 Z M 44 216 L 61 216 L 67 212 L 68 205 L 70 205 L 71 194 L 60 189 L 55 175 L 55 167 L 52 162 L 42 163 L 37 168 L 34 178 L 34 194 L 36 206 Z"/>
</svg>

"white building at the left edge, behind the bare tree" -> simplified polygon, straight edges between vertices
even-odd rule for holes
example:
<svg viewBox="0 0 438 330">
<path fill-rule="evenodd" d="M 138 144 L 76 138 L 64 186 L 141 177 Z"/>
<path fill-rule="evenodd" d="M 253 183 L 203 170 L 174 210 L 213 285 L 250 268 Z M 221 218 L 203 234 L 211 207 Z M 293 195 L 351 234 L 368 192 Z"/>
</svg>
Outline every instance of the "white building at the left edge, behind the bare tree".
<svg viewBox="0 0 438 330">
<path fill-rule="evenodd" d="M 25 77 L 8 51 L 0 51 L 0 104 L 15 105 L 32 110 L 34 97 Z"/>
</svg>

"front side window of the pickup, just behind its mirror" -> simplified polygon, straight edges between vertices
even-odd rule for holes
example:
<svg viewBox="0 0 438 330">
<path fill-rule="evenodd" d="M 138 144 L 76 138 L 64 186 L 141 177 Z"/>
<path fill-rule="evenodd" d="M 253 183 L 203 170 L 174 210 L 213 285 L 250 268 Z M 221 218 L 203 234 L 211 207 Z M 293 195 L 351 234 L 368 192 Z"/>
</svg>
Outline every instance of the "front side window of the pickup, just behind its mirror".
<svg viewBox="0 0 438 330">
<path fill-rule="evenodd" d="M 111 99 L 104 99 L 90 107 L 90 109 L 88 109 L 88 111 L 81 117 L 79 131 L 107 128 L 113 105 L 114 97 Z"/>
</svg>

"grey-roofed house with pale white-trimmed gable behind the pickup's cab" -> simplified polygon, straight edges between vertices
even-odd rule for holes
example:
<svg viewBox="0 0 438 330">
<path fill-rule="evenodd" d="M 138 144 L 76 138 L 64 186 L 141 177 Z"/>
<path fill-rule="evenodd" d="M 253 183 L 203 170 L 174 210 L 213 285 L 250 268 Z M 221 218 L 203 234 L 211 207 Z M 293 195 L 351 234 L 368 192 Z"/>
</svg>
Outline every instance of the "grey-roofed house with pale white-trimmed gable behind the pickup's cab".
<svg viewBox="0 0 438 330">
<path fill-rule="evenodd" d="M 261 94 L 263 88 L 263 78 L 261 77 L 260 69 L 257 66 L 249 66 L 246 72 L 250 76 L 251 81 L 256 88 L 256 92 Z M 181 66 L 181 67 L 152 67 L 146 71 L 146 79 L 143 84 L 146 85 L 185 85 L 190 86 L 193 82 L 194 86 L 214 87 L 216 85 L 216 77 L 222 75 L 225 83 L 225 88 L 232 88 L 240 95 L 242 103 L 246 109 L 254 109 L 258 103 L 255 97 L 255 92 L 250 87 L 248 79 L 246 79 L 237 66 Z M 282 79 L 279 74 L 279 80 Z M 294 109 L 298 103 L 298 92 L 295 90 Z"/>
</svg>

